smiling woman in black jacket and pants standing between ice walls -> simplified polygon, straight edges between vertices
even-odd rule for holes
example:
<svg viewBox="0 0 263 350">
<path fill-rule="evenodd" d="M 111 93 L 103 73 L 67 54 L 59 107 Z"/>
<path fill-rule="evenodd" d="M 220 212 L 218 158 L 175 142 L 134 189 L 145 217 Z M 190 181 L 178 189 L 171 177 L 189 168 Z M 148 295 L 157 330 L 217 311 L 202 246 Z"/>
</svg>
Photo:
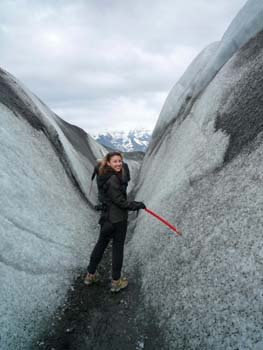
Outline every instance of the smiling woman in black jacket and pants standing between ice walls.
<svg viewBox="0 0 263 350">
<path fill-rule="evenodd" d="M 84 283 L 91 285 L 98 281 L 96 269 L 112 239 L 112 292 L 119 292 L 128 285 L 128 280 L 121 277 L 128 210 L 146 208 L 143 202 L 127 200 L 127 184 L 123 181 L 124 178 L 122 154 L 120 152 L 108 153 L 104 157 L 97 177 L 104 208 L 99 221 L 100 236 L 92 251 Z"/>
</svg>

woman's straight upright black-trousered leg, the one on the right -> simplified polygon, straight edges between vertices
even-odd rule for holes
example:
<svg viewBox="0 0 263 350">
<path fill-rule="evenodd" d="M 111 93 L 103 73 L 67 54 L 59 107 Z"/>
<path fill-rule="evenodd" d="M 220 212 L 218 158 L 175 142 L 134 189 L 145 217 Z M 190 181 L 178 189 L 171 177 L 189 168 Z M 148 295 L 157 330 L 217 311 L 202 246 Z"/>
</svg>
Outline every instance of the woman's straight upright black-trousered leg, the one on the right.
<svg viewBox="0 0 263 350">
<path fill-rule="evenodd" d="M 112 279 L 115 281 L 121 277 L 127 224 L 127 220 L 113 224 L 114 232 L 112 241 Z"/>
</svg>

